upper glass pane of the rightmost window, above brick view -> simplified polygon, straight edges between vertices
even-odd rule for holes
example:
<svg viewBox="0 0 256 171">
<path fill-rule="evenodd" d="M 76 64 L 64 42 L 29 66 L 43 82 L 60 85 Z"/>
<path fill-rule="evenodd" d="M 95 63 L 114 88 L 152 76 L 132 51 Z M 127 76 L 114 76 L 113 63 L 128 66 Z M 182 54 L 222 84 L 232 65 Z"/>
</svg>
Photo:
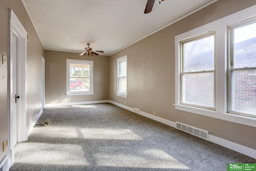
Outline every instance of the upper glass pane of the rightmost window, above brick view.
<svg viewBox="0 0 256 171">
<path fill-rule="evenodd" d="M 234 29 L 234 68 L 256 67 L 256 23 Z"/>
</svg>

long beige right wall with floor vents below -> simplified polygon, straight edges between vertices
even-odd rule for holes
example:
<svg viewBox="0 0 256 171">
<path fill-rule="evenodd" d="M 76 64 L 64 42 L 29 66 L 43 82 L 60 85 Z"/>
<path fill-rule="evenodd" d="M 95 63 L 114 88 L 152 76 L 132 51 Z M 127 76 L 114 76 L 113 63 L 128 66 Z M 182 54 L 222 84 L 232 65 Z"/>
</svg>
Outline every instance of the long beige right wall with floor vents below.
<svg viewBox="0 0 256 171">
<path fill-rule="evenodd" d="M 179 121 L 211 135 L 256 149 L 256 127 L 174 109 L 174 36 L 256 4 L 256 0 L 219 0 L 214 4 L 110 56 L 109 99 L 141 111 Z M 116 96 L 116 59 L 128 55 L 128 99 Z"/>
</svg>

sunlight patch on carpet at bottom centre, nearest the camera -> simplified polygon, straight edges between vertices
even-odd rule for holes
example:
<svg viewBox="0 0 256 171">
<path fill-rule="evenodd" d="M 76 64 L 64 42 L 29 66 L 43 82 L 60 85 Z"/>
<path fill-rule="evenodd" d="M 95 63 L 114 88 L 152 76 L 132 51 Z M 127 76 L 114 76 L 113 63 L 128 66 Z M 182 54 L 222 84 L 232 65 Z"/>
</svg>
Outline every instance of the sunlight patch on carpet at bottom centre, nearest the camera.
<svg viewBox="0 0 256 171">
<path fill-rule="evenodd" d="M 182 162 L 168 155 L 161 149 L 113 149 L 94 155 L 97 165 L 109 167 L 158 168 L 158 169 L 189 169 Z M 136 151 L 136 153 L 134 153 Z"/>
</svg>

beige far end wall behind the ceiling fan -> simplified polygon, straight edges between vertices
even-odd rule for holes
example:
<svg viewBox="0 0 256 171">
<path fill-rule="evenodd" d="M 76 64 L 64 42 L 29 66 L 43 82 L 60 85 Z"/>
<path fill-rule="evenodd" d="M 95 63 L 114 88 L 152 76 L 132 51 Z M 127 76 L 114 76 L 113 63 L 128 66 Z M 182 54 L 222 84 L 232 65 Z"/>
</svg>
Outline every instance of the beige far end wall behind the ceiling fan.
<svg viewBox="0 0 256 171">
<path fill-rule="evenodd" d="M 108 56 L 91 56 L 94 61 L 93 95 L 66 96 L 66 59 L 88 60 L 78 53 L 45 51 L 45 102 L 74 103 L 84 101 L 108 100 Z"/>
</svg>

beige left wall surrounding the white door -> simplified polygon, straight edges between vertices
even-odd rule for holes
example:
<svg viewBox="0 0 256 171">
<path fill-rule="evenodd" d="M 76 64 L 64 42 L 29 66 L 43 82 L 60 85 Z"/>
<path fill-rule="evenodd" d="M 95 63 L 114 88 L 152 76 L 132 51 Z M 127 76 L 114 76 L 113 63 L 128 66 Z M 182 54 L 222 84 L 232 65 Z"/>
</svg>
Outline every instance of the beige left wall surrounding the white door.
<svg viewBox="0 0 256 171">
<path fill-rule="evenodd" d="M 2 142 L 9 139 L 8 121 L 8 18 L 11 8 L 28 34 L 27 42 L 27 127 L 31 127 L 30 121 L 42 108 L 42 56 L 44 48 L 36 34 L 34 26 L 22 4 L 21 0 L 1 0 L 0 2 L 0 161 L 9 152 L 9 147 L 3 152 Z M 2 55 L 6 56 L 7 64 L 2 65 Z"/>
</svg>

